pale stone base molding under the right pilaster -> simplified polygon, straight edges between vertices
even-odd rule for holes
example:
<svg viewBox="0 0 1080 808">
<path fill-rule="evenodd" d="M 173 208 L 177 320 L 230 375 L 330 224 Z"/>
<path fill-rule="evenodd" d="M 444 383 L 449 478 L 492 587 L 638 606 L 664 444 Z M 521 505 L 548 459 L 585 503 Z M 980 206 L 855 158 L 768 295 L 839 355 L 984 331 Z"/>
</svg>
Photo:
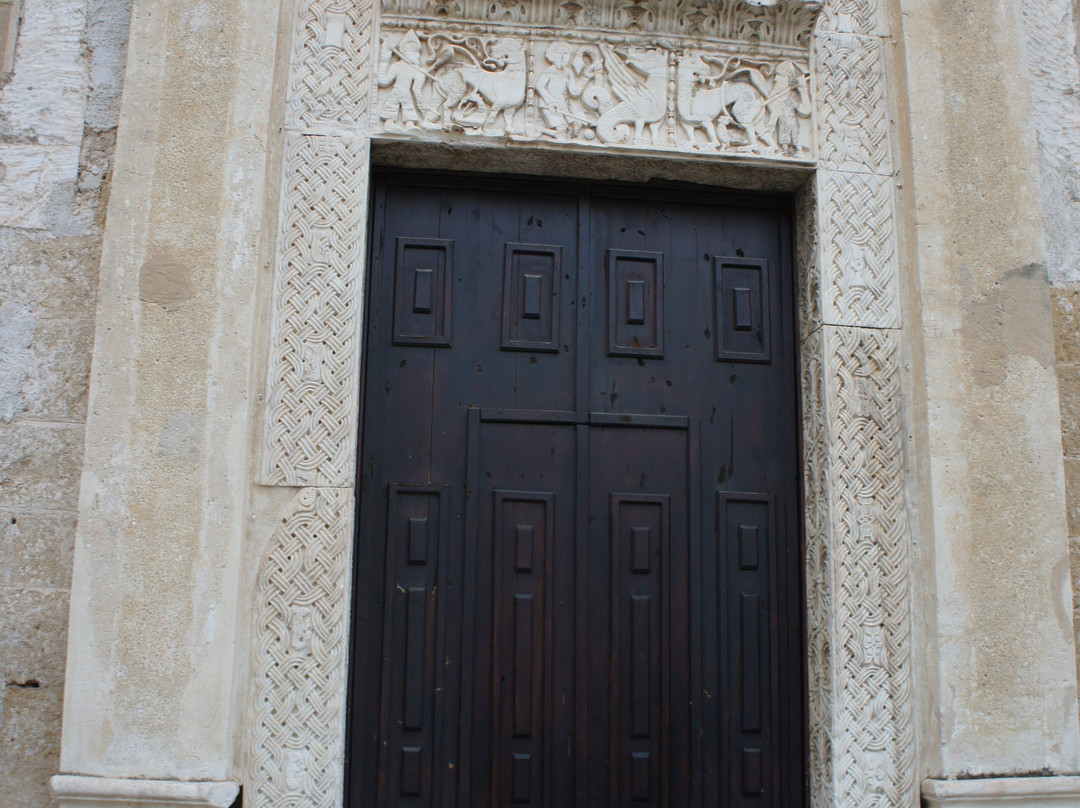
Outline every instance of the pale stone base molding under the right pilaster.
<svg viewBox="0 0 1080 808">
<path fill-rule="evenodd" d="M 1080 777 L 924 780 L 927 808 L 1080 808 Z"/>
</svg>

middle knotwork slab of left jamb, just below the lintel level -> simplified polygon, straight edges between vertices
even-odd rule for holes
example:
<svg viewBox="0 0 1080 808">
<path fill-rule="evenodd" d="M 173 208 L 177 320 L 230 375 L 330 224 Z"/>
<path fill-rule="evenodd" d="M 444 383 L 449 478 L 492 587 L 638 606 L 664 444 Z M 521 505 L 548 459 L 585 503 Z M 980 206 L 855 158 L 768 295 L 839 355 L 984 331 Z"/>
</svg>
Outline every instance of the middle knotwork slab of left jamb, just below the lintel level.
<svg viewBox="0 0 1080 808">
<path fill-rule="evenodd" d="M 274 279 L 266 482 L 349 485 L 355 464 L 367 145 L 291 136 Z"/>
</svg>

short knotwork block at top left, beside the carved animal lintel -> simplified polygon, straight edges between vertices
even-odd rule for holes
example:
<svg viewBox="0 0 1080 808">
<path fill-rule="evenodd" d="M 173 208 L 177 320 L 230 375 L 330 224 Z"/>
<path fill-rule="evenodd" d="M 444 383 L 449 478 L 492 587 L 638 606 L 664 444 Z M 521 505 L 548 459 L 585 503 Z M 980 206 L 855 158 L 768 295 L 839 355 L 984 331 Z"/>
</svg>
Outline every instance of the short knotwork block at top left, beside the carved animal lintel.
<svg viewBox="0 0 1080 808">
<path fill-rule="evenodd" d="M 374 0 L 301 0 L 293 38 L 289 123 L 367 120 Z"/>
</svg>

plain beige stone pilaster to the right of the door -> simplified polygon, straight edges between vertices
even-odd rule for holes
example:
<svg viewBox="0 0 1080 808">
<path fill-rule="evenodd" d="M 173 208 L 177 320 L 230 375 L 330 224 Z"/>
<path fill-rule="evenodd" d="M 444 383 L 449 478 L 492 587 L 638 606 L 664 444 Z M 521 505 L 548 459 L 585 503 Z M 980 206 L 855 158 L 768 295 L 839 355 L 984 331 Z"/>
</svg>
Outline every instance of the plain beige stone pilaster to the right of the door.
<svg viewBox="0 0 1080 808">
<path fill-rule="evenodd" d="M 1074 771 L 1061 410 L 1021 8 L 901 8 L 937 592 L 933 773 Z"/>
</svg>

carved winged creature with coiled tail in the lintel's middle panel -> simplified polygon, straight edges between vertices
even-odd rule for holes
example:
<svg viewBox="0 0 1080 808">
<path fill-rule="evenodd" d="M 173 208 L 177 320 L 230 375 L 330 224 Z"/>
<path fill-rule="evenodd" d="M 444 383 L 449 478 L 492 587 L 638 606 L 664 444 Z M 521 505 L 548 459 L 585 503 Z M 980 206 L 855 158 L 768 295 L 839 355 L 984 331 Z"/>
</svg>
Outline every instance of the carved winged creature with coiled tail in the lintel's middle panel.
<svg viewBox="0 0 1080 808">
<path fill-rule="evenodd" d="M 619 103 L 600 116 L 596 134 L 604 143 L 624 144 L 630 142 L 633 125 L 634 143 L 650 145 L 667 111 L 667 54 L 654 48 L 631 48 L 623 59 L 608 44 L 602 44 L 600 52 Z M 644 136 L 646 124 L 652 140 Z"/>
</svg>

